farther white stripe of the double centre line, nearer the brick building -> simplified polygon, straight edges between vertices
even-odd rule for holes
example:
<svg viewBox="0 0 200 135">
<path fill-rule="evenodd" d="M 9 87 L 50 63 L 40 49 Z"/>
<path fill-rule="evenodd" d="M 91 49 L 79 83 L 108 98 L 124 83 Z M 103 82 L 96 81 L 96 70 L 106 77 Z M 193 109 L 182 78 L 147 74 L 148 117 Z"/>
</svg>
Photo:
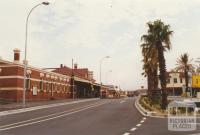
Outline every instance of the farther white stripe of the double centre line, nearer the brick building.
<svg viewBox="0 0 200 135">
<path fill-rule="evenodd" d="M 97 103 L 90 104 L 90 105 L 82 106 L 82 107 L 79 107 L 79 108 L 74 108 L 74 109 L 71 109 L 71 110 L 59 112 L 59 113 L 54 113 L 54 114 L 50 114 L 50 115 L 46 115 L 46 116 L 42 116 L 42 117 L 37 117 L 37 118 L 28 119 L 28 120 L 24 120 L 24 121 L 20 121 L 20 122 L 15 122 L 15 123 L 8 124 L 8 125 L 3 125 L 3 126 L 0 126 L 0 128 L 10 127 L 10 126 L 13 126 L 13 125 L 22 124 L 22 123 L 26 123 L 26 122 L 42 119 L 42 118 L 47 118 L 47 117 L 51 117 L 51 116 L 54 116 L 54 115 L 60 115 L 60 114 L 76 111 L 76 110 L 79 110 L 79 109 L 82 109 L 82 108 L 85 108 L 85 107 L 89 107 L 89 106 L 92 106 L 92 105 L 97 105 L 99 103 L 101 103 L 101 101 L 99 101 Z M 104 103 L 104 102 L 102 102 L 102 103 Z"/>
</svg>

